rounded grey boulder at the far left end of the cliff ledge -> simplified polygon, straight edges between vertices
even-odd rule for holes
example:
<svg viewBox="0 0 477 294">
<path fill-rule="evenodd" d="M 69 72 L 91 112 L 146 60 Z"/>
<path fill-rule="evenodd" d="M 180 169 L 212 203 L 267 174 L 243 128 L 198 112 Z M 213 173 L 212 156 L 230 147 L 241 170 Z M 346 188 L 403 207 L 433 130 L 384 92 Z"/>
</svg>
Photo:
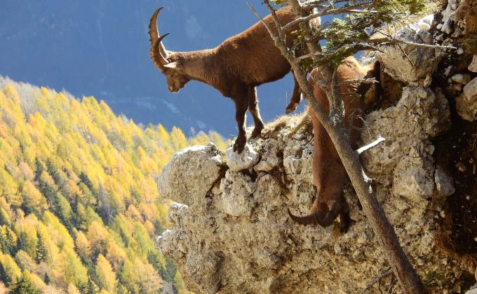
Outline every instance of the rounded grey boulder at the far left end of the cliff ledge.
<svg viewBox="0 0 477 294">
<path fill-rule="evenodd" d="M 159 193 L 166 199 L 187 205 L 193 204 L 195 197 L 202 200 L 220 178 L 224 164 L 222 157 L 214 144 L 194 146 L 176 153 L 157 179 Z"/>
</svg>

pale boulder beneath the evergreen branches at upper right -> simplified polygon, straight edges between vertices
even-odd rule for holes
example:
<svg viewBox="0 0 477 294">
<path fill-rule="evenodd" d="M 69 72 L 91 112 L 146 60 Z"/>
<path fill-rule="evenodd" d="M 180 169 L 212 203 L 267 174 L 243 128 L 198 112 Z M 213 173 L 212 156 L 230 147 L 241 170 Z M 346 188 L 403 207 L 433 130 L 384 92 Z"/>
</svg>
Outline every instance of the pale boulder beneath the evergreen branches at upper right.
<svg viewBox="0 0 477 294">
<path fill-rule="evenodd" d="M 417 25 L 404 27 L 394 37 L 412 43 L 432 44 L 429 31 L 421 30 Z M 394 79 L 424 85 L 424 79 L 437 69 L 442 56 L 438 49 L 400 44 L 385 47 L 379 59 L 384 71 Z"/>
</svg>

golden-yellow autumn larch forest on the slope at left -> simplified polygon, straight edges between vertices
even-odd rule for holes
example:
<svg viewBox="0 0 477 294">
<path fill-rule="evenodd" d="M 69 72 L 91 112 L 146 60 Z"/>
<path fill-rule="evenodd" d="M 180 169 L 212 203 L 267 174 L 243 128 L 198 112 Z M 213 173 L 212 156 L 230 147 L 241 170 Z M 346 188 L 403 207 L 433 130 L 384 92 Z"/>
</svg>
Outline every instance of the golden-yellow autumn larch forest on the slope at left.
<svg viewBox="0 0 477 294">
<path fill-rule="evenodd" d="M 226 143 L 140 127 L 105 102 L 0 77 L 0 285 L 39 293 L 184 291 L 154 249 L 168 202 L 154 178 L 192 144 Z"/>
</svg>

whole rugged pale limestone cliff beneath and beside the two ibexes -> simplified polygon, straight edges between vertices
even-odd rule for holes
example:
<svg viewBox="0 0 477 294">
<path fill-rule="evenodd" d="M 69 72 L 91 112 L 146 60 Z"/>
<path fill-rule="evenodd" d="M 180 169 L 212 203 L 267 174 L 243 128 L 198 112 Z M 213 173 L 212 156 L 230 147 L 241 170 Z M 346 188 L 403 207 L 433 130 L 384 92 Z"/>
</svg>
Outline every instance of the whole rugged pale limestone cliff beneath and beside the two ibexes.
<svg viewBox="0 0 477 294">
<path fill-rule="evenodd" d="M 467 4 L 451 0 L 436 18 L 426 17 L 396 36 L 459 46 L 455 40 L 466 34 L 459 9 Z M 477 104 L 477 78 L 471 64 L 477 57 L 463 53 L 411 45 L 385 48 L 379 54 L 384 97 L 380 107 L 365 116 L 361 136 L 363 144 L 379 136 L 386 139 L 363 154 L 363 165 L 410 261 L 425 286 L 436 292 L 460 293 L 475 282 L 469 274 L 475 267 L 473 248 L 449 248 L 459 239 L 448 197 L 457 195 L 459 204 L 476 197 L 473 190 L 467 195 L 456 192 L 463 179 L 458 164 L 465 168 L 468 162 L 441 158 L 457 158 L 469 146 L 440 139 L 462 135 L 454 127 L 462 123 L 457 114 L 473 120 L 477 113 L 472 108 Z M 448 69 L 456 58 L 469 68 Z M 287 208 L 307 214 L 316 192 L 311 177 L 313 134 L 307 128 L 295 132 L 300 118 L 269 125 L 262 138 L 249 141 L 243 155 L 231 149 L 221 153 L 213 144 L 195 146 L 177 153 L 163 170 L 159 190 L 175 203 L 169 210 L 173 226 L 158 237 L 157 246 L 174 260 L 190 290 L 356 293 L 387 269 L 351 187 L 344 193 L 356 223 L 345 234 L 337 225 L 305 227 L 288 217 Z M 392 276 L 385 276 L 370 290 L 394 283 Z"/>
</svg>

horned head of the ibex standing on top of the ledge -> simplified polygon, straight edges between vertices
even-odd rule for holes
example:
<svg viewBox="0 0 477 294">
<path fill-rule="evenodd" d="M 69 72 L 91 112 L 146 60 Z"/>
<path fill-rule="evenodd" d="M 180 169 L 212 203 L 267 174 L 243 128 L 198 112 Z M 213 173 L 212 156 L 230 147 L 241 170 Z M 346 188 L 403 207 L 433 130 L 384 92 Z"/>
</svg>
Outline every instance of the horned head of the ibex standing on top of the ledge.
<svg viewBox="0 0 477 294">
<path fill-rule="evenodd" d="M 170 92 L 179 92 L 182 87 L 190 80 L 189 76 L 184 72 L 183 57 L 180 53 L 166 50 L 162 39 L 168 34 L 161 36 L 157 27 L 157 16 L 163 7 L 154 12 L 149 22 L 149 38 L 151 41 L 151 59 L 156 67 L 167 78 L 167 85 Z"/>
</svg>

